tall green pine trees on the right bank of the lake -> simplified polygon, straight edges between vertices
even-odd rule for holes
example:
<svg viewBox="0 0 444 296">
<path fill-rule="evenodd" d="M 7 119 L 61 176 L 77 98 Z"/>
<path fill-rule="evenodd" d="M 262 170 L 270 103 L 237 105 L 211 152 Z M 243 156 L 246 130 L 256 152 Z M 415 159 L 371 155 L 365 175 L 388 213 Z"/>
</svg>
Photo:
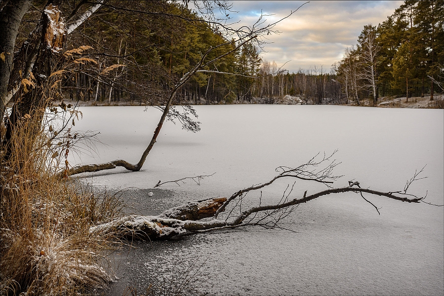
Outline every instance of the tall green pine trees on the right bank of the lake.
<svg viewBox="0 0 444 296">
<path fill-rule="evenodd" d="M 366 63 L 363 44 L 371 25 L 365 26 L 356 50 L 346 51 L 339 62 L 338 80 L 348 98 L 353 88 L 349 74 L 350 61 L 357 61 L 357 95 L 369 96 L 362 75 Z M 372 27 L 374 28 L 374 27 Z M 443 83 L 444 73 L 444 2 L 407 0 L 382 24 L 375 28 L 376 80 L 382 96 L 411 97 L 430 94 L 434 99 L 436 84 Z M 435 80 L 435 82 L 433 82 Z M 345 82 L 346 81 L 346 82 Z M 377 98 L 377 96 L 376 96 Z"/>
</svg>

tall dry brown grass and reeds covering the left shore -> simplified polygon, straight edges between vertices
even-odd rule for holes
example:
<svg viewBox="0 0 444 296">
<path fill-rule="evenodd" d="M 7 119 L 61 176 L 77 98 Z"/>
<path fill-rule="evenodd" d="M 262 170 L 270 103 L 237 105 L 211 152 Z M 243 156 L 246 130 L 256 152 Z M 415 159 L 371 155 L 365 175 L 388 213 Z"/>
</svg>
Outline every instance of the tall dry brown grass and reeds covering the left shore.
<svg viewBox="0 0 444 296">
<path fill-rule="evenodd" d="M 119 215 L 120 204 L 61 178 L 77 140 L 65 121 L 60 128 L 28 115 L 11 156 L 0 151 L 1 296 L 78 295 L 111 281 L 103 265 L 113 238 L 89 228 Z"/>
</svg>

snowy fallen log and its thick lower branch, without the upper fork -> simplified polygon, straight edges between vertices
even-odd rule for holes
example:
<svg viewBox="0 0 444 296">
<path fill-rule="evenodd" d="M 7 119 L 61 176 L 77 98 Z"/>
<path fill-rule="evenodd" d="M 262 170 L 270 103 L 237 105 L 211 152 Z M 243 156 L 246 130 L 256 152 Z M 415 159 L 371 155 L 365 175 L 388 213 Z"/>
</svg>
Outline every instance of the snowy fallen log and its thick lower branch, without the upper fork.
<svg viewBox="0 0 444 296">
<path fill-rule="evenodd" d="M 208 199 L 199 202 L 189 203 L 182 207 L 173 208 L 168 210 L 158 216 L 137 216 L 131 215 L 117 219 L 113 222 L 108 222 L 98 226 L 91 227 L 91 232 L 103 232 L 103 233 L 114 233 L 125 238 L 131 239 L 167 239 L 177 235 L 185 235 L 190 233 L 198 232 L 208 232 L 221 229 L 233 229 L 242 226 L 249 225 L 260 225 L 266 228 L 274 228 L 273 224 L 281 221 L 281 219 L 276 219 L 270 225 L 267 222 L 253 222 L 249 221 L 243 223 L 252 214 L 270 210 L 280 210 L 291 206 L 296 206 L 301 203 L 316 199 L 318 197 L 342 193 L 342 192 L 366 192 L 373 195 L 386 196 L 399 201 L 409 202 L 409 203 L 419 203 L 423 198 L 407 198 L 400 197 L 390 192 L 382 192 L 377 190 L 371 190 L 359 187 L 342 187 L 342 188 L 330 188 L 312 195 L 302 197 L 300 199 L 293 199 L 291 201 L 268 206 L 258 206 L 253 207 L 247 211 L 242 212 L 242 214 L 234 220 L 218 220 L 211 219 L 209 221 L 199 221 L 203 218 L 208 218 L 213 215 L 216 208 L 220 207 L 226 198 L 215 198 Z M 203 206 L 201 206 L 203 205 Z M 205 209 L 205 210 L 204 210 Z M 276 212 L 277 213 L 277 212 Z M 291 213 L 291 212 L 290 212 Z M 266 218 L 270 217 L 269 215 Z M 262 218 L 263 219 L 263 218 Z"/>
</svg>

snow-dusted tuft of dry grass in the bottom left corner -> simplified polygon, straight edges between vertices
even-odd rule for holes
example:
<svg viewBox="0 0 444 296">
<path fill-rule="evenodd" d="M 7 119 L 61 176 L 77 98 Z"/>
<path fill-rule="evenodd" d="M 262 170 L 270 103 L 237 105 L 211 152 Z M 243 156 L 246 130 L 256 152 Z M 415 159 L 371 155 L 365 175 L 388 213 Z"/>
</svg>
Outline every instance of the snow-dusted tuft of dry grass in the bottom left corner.
<svg viewBox="0 0 444 296">
<path fill-rule="evenodd" d="M 3 230 L 1 239 L 8 244 L 3 245 L 2 241 L 5 248 L 2 248 L 1 295 L 23 291 L 21 286 L 29 274 L 33 275 L 32 282 L 25 293 L 32 295 L 60 295 L 73 287 L 104 288 L 111 282 L 109 273 L 98 264 L 101 256 L 94 252 L 94 247 L 84 245 L 85 238 L 37 231 L 30 242 L 29 238 Z M 5 266 L 14 269 L 3 269 Z M 22 278 L 13 279 L 10 273 L 15 271 Z"/>
</svg>

